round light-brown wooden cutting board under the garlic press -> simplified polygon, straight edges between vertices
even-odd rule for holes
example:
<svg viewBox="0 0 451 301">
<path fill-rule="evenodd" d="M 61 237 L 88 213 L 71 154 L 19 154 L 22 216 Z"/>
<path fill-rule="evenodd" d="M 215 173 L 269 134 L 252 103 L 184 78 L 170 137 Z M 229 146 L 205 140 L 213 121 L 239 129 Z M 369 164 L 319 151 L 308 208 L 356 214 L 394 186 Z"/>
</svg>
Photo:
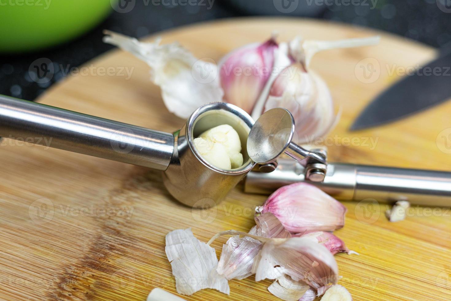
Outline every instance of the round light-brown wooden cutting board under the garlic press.
<svg viewBox="0 0 451 301">
<path fill-rule="evenodd" d="M 179 41 L 199 58 L 218 60 L 236 47 L 264 41 L 273 30 L 280 41 L 296 35 L 382 36 L 379 46 L 332 50 L 313 59 L 311 68 L 326 80 L 343 112 L 326 140 L 331 161 L 451 169 L 451 141 L 446 140 L 451 102 L 389 125 L 347 131 L 368 102 L 399 78 L 399 70 L 434 57 L 428 46 L 337 23 L 288 18 L 201 23 L 160 35 L 164 43 Z M 148 66 L 134 56 L 111 51 L 86 64 L 91 65 L 94 70 L 134 69 L 129 79 L 94 71 L 70 76 L 38 101 L 168 132 L 184 123 L 166 110 L 160 89 L 149 81 Z M 144 300 L 154 287 L 175 293 L 164 251 L 166 233 L 192 227 L 207 241 L 223 230 L 248 231 L 253 208 L 266 199 L 244 194 L 241 185 L 200 215 L 170 197 L 158 171 L 13 140 L 2 143 L 0 164 L 0 298 L 7 300 Z M 405 221 L 390 223 L 386 205 L 343 203 L 346 223 L 336 234 L 360 255 L 340 254 L 336 260 L 343 276 L 339 283 L 354 300 L 450 300 L 448 209 L 416 208 Z M 213 243 L 218 255 L 226 239 Z M 251 276 L 230 281 L 230 296 L 203 290 L 183 297 L 276 300 L 267 291 L 270 283 Z"/>
</svg>

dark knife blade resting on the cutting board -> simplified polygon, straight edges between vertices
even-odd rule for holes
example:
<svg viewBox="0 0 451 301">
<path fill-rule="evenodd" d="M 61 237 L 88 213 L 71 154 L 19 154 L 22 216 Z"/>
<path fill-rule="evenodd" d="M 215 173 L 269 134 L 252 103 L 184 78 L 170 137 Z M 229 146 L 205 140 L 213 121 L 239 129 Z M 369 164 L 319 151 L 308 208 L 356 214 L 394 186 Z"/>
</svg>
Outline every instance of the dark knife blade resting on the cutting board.
<svg viewBox="0 0 451 301">
<path fill-rule="evenodd" d="M 406 75 L 379 94 L 354 120 L 350 130 L 362 130 L 399 120 L 450 97 L 451 51 L 413 74 Z"/>
</svg>

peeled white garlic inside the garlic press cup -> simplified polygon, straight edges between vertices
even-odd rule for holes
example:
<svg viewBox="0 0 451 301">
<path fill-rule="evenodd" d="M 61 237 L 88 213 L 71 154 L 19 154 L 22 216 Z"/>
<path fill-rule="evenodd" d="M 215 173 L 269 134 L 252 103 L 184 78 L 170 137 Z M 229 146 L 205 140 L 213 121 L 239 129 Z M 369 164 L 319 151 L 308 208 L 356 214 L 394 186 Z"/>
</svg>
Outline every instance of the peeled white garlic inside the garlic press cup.
<svg viewBox="0 0 451 301">
<path fill-rule="evenodd" d="M 194 147 L 210 164 L 221 169 L 243 165 L 241 141 L 230 125 L 218 125 L 194 139 Z"/>
</svg>

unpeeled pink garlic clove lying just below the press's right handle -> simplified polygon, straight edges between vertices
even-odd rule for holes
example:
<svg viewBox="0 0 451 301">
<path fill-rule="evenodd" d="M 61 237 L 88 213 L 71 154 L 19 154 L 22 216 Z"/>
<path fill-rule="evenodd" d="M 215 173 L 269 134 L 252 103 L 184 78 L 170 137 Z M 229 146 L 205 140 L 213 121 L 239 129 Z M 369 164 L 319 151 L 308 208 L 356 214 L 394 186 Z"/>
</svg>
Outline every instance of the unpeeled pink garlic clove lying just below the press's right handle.
<svg viewBox="0 0 451 301">
<path fill-rule="evenodd" d="M 346 208 L 319 188 L 299 182 L 276 190 L 256 211 L 274 214 L 291 233 L 303 233 L 340 229 Z"/>
</svg>

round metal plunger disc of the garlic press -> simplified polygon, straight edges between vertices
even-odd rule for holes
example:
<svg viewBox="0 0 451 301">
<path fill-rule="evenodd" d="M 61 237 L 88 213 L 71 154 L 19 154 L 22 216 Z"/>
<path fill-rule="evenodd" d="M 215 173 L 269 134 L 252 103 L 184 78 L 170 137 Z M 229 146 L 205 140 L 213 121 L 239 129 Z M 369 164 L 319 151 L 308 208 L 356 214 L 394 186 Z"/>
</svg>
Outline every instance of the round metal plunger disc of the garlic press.
<svg viewBox="0 0 451 301">
<path fill-rule="evenodd" d="M 266 111 L 255 121 L 249 132 L 247 151 L 253 162 L 273 162 L 290 145 L 295 132 L 295 120 L 284 108 Z"/>
</svg>

